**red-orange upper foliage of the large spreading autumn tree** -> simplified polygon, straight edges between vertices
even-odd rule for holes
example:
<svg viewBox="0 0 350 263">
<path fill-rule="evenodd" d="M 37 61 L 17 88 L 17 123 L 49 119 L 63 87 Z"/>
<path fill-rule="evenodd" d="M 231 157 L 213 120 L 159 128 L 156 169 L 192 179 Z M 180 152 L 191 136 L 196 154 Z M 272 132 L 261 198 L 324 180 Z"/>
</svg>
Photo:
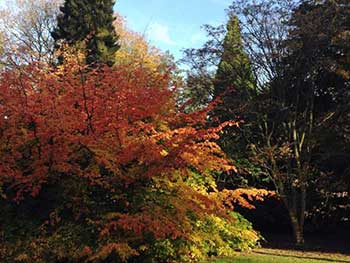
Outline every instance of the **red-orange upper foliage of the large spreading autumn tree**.
<svg viewBox="0 0 350 263">
<path fill-rule="evenodd" d="M 209 138 L 210 131 L 186 127 L 180 113 L 165 111 L 173 103 L 167 74 L 136 70 L 128 78 L 125 67 L 86 73 L 76 64 L 58 73 L 30 69 L 2 76 L 0 174 L 16 189 L 17 200 L 25 193 L 36 196 L 52 174 L 79 174 L 108 185 L 114 179 L 101 177 L 99 165 L 126 184 L 185 168 L 191 161 L 186 154 Z M 158 127 L 160 121 L 169 131 Z M 79 166 L 85 150 L 94 161 Z M 212 148 L 201 151 L 224 164 L 209 154 Z M 132 174 L 122 168 L 130 163 L 137 164 Z"/>
</svg>

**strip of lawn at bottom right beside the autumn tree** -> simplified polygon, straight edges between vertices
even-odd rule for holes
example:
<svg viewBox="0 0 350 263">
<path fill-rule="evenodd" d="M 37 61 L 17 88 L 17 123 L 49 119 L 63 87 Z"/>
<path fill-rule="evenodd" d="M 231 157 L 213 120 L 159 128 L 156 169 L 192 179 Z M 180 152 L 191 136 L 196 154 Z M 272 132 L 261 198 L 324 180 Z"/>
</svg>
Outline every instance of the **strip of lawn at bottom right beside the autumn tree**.
<svg viewBox="0 0 350 263">
<path fill-rule="evenodd" d="M 350 256 L 330 253 L 261 249 L 232 259 L 217 259 L 207 263 L 350 263 Z"/>
</svg>

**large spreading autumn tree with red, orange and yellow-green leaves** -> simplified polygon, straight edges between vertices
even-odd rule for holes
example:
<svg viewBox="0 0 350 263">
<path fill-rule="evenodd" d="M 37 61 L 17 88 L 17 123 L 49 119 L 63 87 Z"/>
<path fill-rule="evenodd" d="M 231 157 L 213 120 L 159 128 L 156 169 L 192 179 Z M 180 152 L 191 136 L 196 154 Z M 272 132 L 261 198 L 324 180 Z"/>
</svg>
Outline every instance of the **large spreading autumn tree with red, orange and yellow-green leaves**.
<svg viewBox="0 0 350 263">
<path fill-rule="evenodd" d="M 219 192 L 209 172 L 235 169 L 215 140 L 236 124 L 179 111 L 168 71 L 81 61 L 2 73 L 1 261 L 193 262 L 253 247 L 227 209 L 249 206 L 244 191 Z"/>
</svg>

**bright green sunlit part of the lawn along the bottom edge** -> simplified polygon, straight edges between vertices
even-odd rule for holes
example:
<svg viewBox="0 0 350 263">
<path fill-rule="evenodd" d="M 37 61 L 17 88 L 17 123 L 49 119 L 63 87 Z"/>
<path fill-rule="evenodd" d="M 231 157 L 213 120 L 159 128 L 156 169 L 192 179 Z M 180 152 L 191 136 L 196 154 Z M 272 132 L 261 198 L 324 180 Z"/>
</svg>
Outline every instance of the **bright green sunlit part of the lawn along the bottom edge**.
<svg viewBox="0 0 350 263">
<path fill-rule="evenodd" d="M 350 261 L 337 261 L 335 259 L 312 259 L 302 258 L 294 256 L 273 256 L 273 255 L 260 255 L 256 253 L 237 256 L 233 259 L 218 259 L 214 261 L 208 261 L 207 263 L 344 263 Z"/>
</svg>

